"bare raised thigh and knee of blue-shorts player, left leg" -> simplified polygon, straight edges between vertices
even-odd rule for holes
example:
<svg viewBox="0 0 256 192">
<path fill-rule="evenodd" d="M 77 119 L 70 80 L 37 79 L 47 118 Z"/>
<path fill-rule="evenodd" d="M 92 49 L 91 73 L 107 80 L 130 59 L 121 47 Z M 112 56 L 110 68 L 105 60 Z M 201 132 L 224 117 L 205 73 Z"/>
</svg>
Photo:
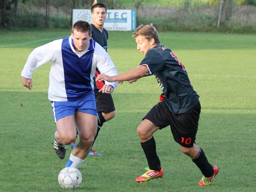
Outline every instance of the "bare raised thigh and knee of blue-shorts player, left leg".
<svg viewBox="0 0 256 192">
<path fill-rule="evenodd" d="M 76 123 L 74 115 L 66 116 L 56 122 L 57 132 L 56 139 L 64 144 L 69 145 L 76 138 Z"/>
</svg>

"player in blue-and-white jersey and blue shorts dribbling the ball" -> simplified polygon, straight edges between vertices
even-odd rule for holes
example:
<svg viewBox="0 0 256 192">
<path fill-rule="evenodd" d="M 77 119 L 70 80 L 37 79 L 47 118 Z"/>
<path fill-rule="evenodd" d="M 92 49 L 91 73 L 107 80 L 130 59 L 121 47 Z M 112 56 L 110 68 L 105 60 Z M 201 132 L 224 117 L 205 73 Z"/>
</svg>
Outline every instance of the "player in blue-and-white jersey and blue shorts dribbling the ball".
<svg viewBox="0 0 256 192">
<path fill-rule="evenodd" d="M 72 150 L 66 166 L 78 168 L 88 155 L 97 131 L 97 110 L 93 90 L 96 67 L 101 73 L 118 75 L 108 53 L 91 38 L 91 27 L 86 21 L 77 21 L 71 36 L 37 47 L 28 57 L 21 72 L 22 83 L 32 89 L 32 72 L 52 61 L 48 99 L 57 131 L 54 149 L 64 159 L 66 145 L 76 138 L 80 141 Z M 103 93 L 113 92 L 117 82 L 105 82 Z"/>
</svg>

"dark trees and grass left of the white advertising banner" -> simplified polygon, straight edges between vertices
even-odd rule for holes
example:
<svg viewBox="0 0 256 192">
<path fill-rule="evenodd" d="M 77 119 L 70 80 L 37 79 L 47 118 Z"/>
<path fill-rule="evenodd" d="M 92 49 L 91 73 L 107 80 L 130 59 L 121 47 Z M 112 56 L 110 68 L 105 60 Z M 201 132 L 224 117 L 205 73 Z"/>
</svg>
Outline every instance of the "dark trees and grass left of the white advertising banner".
<svg viewBox="0 0 256 192">
<path fill-rule="evenodd" d="M 0 27 L 69 27 L 72 9 L 89 2 L 92 4 L 91 0 L 1 0 Z M 55 26 L 50 25 L 52 20 Z"/>
</svg>

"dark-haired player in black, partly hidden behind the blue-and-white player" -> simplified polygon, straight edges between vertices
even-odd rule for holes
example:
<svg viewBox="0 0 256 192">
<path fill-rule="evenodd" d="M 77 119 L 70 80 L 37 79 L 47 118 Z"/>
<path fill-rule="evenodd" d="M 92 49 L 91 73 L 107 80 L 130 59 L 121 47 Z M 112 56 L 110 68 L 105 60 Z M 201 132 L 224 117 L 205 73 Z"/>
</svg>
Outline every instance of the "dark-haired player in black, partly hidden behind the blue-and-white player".
<svg viewBox="0 0 256 192">
<path fill-rule="evenodd" d="M 108 49 L 108 31 L 103 28 L 104 22 L 107 17 L 107 7 L 104 4 L 97 3 L 91 7 L 92 19 L 91 24 L 92 29 L 92 39 L 100 44 L 106 51 Z M 96 107 L 98 111 L 98 128 L 97 133 L 92 143 L 92 146 L 98 136 L 101 126 L 104 122 L 114 118 L 116 115 L 116 109 L 114 101 L 111 94 L 99 92 L 99 90 L 104 86 L 104 81 L 98 82 L 95 78 L 100 74 L 98 68 L 96 68 L 95 76 L 93 77 L 94 84 L 94 94 L 96 99 Z M 70 145 L 71 148 L 75 146 L 75 141 Z M 95 150 L 90 151 L 88 155 L 91 156 L 102 156 L 102 154 L 97 153 Z"/>
</svg>

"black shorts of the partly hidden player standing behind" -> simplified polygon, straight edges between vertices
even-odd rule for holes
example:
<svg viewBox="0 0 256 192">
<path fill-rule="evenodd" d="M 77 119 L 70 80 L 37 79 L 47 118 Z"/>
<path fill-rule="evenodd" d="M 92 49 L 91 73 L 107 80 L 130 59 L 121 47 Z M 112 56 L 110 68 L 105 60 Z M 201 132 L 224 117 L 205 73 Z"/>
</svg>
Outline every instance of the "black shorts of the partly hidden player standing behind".
<svg viewBox="0 0 256 192">
<path fill-rule="evenodd" d="M 98 112 L 110 113 L 116 110 L 111 94 L 99 92 L 98 89 L 94 90 L 94 94 Z"/>
</svg>

